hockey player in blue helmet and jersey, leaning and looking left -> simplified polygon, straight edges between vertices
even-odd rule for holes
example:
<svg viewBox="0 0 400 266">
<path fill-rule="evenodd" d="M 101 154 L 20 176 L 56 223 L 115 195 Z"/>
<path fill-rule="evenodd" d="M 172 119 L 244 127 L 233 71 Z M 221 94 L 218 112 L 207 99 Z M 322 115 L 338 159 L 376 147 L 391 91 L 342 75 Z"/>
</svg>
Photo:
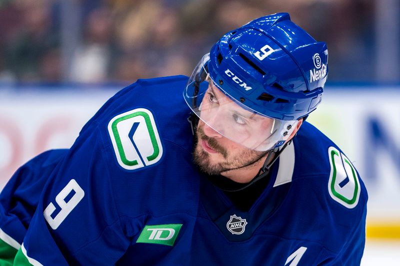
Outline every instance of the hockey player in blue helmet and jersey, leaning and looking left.
<svg viewBox="0 0 400 266">
<path fill-rule="evenodd" d="M 122 89 L 10 179 L 3 265 L 359 265 L 365 187 L 304 121 L 327 57 L 278 13 L 222 36 L 189 78 Z"/>
</svg>

